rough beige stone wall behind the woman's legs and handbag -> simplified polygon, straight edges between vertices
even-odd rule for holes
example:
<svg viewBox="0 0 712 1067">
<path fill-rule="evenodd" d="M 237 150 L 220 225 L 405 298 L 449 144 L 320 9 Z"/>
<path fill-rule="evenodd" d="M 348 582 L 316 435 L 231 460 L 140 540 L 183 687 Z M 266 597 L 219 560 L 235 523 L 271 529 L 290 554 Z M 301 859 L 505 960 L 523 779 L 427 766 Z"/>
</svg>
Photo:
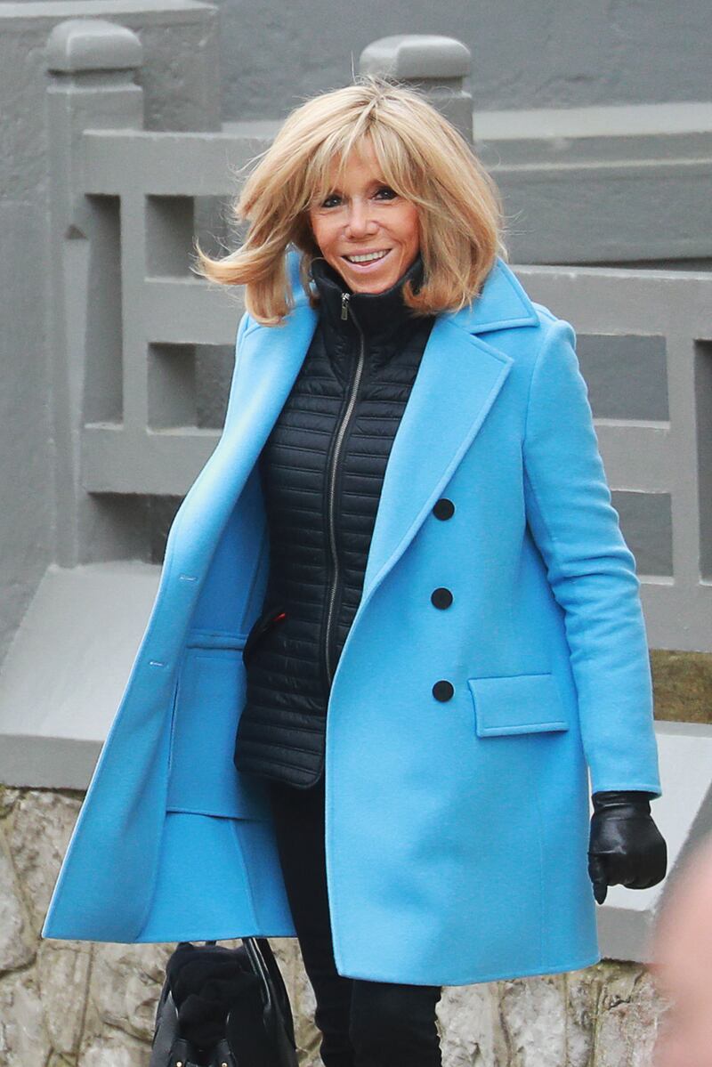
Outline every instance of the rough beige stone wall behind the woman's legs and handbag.
<svg viewBox="0 0 712 1067">
<path fill-rule="evenodd" d="M 145 1067 L 172 945 L 43 941 L 81 794 L 0 787 L 0 1067 Z M 302 1067 L 318 1067 L 297 942 L 272 940 Z M 448 987 L 445 1067 L 649 1067 L 664 1005 L 635 964 Z"/>
</svg>

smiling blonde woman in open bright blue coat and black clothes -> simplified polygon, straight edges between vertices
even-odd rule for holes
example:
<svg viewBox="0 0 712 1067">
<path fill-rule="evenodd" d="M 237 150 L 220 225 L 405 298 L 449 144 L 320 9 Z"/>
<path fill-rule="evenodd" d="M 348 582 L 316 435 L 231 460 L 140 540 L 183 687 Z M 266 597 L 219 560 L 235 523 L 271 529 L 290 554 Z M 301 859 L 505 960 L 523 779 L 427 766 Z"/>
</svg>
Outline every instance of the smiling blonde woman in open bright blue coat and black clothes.
<svg viewBox="0 0 712 1067">
<path fill-rule="evenodd" d="M 297 936 L 327 1067 L 430 1067 L 443 985 L 592 964 L 594 892 L 664 876 L 635 563 L 573 330 L 418 93 L 307 100 L 236 210 L 225 430 L 44 933 Z"/>
</svg>

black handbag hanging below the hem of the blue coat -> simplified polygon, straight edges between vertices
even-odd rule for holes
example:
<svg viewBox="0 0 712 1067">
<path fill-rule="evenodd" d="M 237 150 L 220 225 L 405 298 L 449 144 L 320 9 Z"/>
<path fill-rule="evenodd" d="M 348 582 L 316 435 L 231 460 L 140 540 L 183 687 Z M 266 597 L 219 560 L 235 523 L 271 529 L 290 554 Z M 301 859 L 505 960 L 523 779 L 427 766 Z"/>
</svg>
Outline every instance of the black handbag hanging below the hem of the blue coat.
<svg viewBox="0 0 712 1067">
<path fill-rule="evenodd" d="M 169 960 L 156 1012 L 149 1067 L 298 1067 L 289 996 L 269 941 L 255 937 L 241 941 L 236 949 L 218 950 L 223 962 L 228 957 L 244 974 L 246 992 L 231 1002 L 225 1036 L 209 1049 L 195 1047 L 180 1033 Z M 176 953 L 187 944 L 181 942 Z M 207 941 L 206 949 L 215 944 Z M 201 951 L 195 946 L 194 958 L 200 959 Z M 203 955 L 209 970 L 209 950 Z"/>
</svg>

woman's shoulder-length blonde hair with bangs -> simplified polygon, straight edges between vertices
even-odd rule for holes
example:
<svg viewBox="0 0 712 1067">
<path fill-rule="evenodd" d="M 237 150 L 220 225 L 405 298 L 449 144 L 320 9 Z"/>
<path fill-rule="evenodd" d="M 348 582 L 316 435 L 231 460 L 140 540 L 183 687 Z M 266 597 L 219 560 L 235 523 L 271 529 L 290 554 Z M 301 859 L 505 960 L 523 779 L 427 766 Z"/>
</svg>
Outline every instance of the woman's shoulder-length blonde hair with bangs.
<svg viewBox="0 0 712 1067">
<path fill-rule="evenodd" d="M 506 256 L 502 203 L 494 181 L 464 138 L 416 90 L 377 75 L 307 99 L 285 120 L 233 204 L 249 221 L 242 245 L 211 259 L 197 242 L 195 273 L 223 285 L 244 285 L 246 306 L 264 325 L 278 325 L 294 308 L 285 253 L 300 252 L 299 276 L 313 307 L 318 293 L 310 267 L 320 250 L 311 205 L 341 178 L 352 150 L 369 139 L 382 177 L 418 208 L 424 276 L 417 292 L 404 286 L 416 314 L 459 310 L 470 304 L 494 265 Z M 251 161 L 253 162 L 253 161 Z"/>
</svg>

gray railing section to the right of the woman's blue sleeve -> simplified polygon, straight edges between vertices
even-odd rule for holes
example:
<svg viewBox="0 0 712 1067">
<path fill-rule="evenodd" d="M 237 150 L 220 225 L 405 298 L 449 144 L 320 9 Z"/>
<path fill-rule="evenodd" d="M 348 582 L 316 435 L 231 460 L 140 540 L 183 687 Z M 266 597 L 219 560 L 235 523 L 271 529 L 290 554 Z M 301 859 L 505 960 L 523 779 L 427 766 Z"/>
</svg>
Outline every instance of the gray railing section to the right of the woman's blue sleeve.
<svg viewBox="0 0 712 1067">
<path fill-rule="evenodd" d="M 518 273 L 577 331 L 626 532 L 630 516 L 650 646 L 712 650 L 712 274 Z"/>
</svg>

